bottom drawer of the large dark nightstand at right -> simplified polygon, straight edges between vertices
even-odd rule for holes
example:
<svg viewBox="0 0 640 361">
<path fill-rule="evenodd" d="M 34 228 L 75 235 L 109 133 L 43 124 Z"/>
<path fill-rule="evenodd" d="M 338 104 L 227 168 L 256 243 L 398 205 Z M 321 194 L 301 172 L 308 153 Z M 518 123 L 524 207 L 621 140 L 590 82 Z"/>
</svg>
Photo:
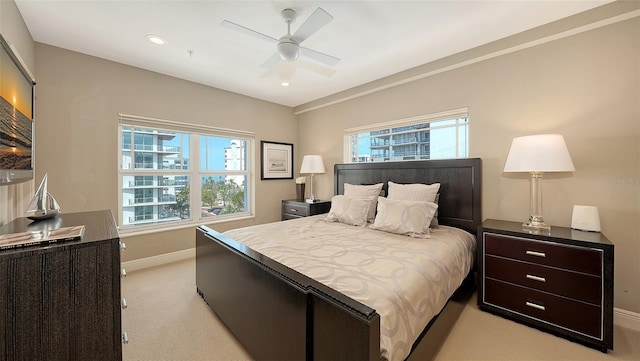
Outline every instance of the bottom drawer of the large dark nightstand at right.
<svg viewBox="0 0 640 361">
<path fill-rule="evenodd" d="M 600 307 L 489 278 L 484 282 L 488 304 L 602 339 Z"/>
</svg>

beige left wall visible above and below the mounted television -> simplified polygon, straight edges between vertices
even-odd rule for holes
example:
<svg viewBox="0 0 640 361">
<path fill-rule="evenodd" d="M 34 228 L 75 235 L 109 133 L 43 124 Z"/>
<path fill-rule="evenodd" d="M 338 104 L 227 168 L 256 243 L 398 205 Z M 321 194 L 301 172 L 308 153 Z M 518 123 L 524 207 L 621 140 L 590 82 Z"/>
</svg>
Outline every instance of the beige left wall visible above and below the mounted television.
<svg viewBox="0 0 640 361">
<path fill-rule="evenodd" d="M 14 46 L 25 65 L 35 76 L 33 39 L 13 1 L 0 1 L 0 34 Z M 37 113 L 35 116 L 37 117 Z M 0 225 L 25 215 L 24 211 L 33 196 L 34 183 L 29 181 L 0 186 Z"/>
</svg>

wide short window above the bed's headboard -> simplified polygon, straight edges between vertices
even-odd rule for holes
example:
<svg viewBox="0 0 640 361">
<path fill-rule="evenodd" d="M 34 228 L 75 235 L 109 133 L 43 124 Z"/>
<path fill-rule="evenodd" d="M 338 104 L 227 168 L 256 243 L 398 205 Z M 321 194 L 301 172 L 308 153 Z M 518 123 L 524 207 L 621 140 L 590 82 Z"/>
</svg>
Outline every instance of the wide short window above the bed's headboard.
<svg viewBox="0 0 640 361">
<path fill-rule="evenodd" d="M 386 162 L 469 156 L 468 110 L 345 130 L 345 162 Z"/>
</svg>

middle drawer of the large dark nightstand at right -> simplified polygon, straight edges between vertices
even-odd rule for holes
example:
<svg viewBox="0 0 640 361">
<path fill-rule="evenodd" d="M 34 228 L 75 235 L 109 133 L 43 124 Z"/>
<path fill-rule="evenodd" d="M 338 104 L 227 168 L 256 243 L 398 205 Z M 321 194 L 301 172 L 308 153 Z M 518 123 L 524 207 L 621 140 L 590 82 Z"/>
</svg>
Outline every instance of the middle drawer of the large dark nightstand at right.
<svg viewBox="0 0 640 361">
<path fill-rule="evenodd" d="M 491 255 L 486 256 L 484 267 L 486 277 L 602 305 L 602 278 L 598 276 Z"/>
</svg>

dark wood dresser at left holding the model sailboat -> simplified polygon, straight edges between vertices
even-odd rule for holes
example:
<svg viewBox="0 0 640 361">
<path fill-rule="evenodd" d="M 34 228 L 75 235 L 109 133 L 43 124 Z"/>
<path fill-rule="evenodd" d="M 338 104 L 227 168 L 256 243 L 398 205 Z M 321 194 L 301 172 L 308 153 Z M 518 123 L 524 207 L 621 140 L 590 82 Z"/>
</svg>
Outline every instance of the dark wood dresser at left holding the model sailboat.
<svg viewBox="0 0 640 361">
<path fill-rule="evenodd" d="M 120 239 L 111 211 L 18 218 L 0 234 L 84 225 L 79 241 L 0 251 L 0 360 L 122 360 Z"/>
</svg>

